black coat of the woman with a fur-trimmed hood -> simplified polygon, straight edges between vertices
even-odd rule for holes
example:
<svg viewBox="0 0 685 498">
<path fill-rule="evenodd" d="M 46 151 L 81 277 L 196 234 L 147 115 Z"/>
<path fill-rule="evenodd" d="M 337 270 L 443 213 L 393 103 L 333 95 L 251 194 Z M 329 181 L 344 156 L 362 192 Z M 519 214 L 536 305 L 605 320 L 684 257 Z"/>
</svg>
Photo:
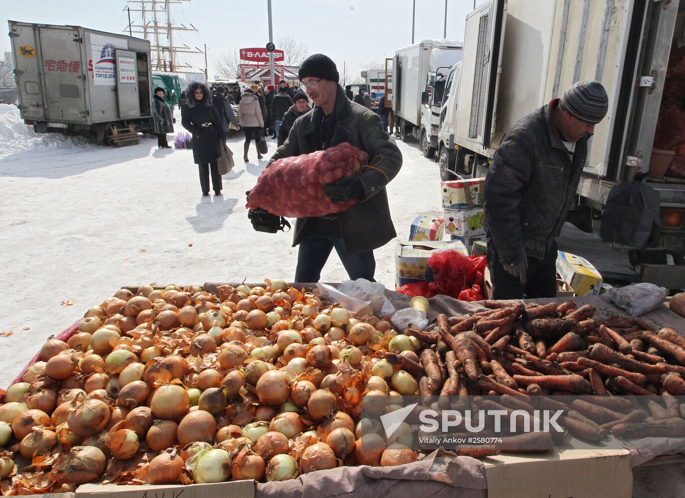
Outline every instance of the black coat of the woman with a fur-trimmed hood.
<svg viewBox="0 0 685 498">
<path fill-rule="evenodd" d="M 203 87 L 201 101 L 194 96 L 195 88 Z M 188 86 L 188 101 L 181 109 L 181 125 L 192 134 L 192 158 L 195 164 L 215 162 L 219 156 L 219 137 L 223 136 L 221 116 L 212 103 L 212 93 L 206 84 L 192 82 Z M 212 123 L 202 126 L 203 123 Z"/>
</svg>

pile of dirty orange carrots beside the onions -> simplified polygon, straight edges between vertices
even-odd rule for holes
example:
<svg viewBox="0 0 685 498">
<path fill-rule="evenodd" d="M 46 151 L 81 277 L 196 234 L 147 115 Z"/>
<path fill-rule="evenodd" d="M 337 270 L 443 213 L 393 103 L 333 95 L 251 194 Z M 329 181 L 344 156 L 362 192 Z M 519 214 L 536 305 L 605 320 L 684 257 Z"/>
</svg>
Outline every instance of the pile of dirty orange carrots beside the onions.
<svg viewBox="0 0 685 498">
<path fill-rule="evenodd" d="M 405 332 L 423 343 L 414 369 L 423 366 L 421 396 L 457 395 L 463 406 L 471 395 L 472 412 L 564 410 L 560 425 L 589 441 L 610 433 L 685 436 L 685 403 L 676 397 L 685 395 L 685 337 L 675 330 L 639 318 L 595 319 L 594 306 L 573 300 L 484 306 L 470 316 L 440 314 L 432 329 Z M 563 395 L 575 396 L 564 402 Z M 438 404 L 449 408 L 445 400 Z M 566 437 L 518 429 L 489 454 L 545 451 Z"/>
</svg>

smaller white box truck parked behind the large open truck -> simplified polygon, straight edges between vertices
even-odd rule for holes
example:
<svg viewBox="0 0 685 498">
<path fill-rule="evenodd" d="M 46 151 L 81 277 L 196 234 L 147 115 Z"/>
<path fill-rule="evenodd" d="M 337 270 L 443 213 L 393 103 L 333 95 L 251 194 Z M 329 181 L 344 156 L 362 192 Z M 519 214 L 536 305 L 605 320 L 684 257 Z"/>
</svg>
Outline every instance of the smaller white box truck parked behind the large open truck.
<svg viewBox="0 0 685 498">
<path fill-rule="evenodd" d="M 462 42 L 423 40 L 395 51 L 393 111 L 399 119 L 402 140 L 420 140 L 421 150 L 432 158 L 438 145 L 440 105 L 447 71 L 462 60 Z"/>
</svg>

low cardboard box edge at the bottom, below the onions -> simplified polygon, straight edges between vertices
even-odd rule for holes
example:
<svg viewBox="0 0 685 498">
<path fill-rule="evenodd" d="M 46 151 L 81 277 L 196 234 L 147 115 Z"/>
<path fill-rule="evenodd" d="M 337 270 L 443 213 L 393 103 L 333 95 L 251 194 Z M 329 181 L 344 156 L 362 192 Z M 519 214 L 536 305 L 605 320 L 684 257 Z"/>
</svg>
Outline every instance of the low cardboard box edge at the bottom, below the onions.
<svg viewBox="0 0 685 498">
<path fill-rule="evenodd" d="M 76 490 L 79 498 L 253 498 L 254 481 L 232 481 L 217 484 L 168 484 L 162 486 L 117 486 L 116 484 L 82 484 Z"/>
</svg>

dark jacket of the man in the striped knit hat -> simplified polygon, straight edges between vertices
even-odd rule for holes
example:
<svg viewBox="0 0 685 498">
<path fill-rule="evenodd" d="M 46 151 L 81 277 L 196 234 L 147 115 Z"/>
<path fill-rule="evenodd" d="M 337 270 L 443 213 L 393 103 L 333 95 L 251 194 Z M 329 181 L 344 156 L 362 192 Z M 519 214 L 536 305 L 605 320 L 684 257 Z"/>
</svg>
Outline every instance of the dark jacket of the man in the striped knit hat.
<svg viewBox="0 0 685 498">
<path fill-rule="evenodd" d="M 488 168 L 486 234 L 503 264 L 523 253 L 542 260 L 573 205 L 588 139 L 578 140 L 573 156 L 569 155 L 553 124 L 557 104 L 554 99 L 517 121 Z"/>
</svg>

